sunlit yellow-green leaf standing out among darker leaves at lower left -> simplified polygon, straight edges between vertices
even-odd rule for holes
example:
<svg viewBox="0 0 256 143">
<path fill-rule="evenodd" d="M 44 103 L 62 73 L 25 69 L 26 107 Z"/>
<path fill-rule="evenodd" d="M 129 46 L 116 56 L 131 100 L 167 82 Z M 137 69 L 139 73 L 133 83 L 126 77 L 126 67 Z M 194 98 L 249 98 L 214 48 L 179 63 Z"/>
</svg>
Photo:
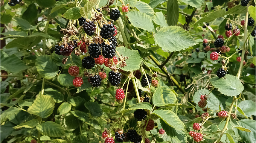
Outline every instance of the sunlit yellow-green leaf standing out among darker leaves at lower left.
<svg viewBox="0 0 256 143">
<path fill-rule="evenodd" d="M 40 116 L 41 118 L 47 118 L 52 114 L 54 105 L 55 103 L 52 97 L 38 94 L 32 106 L 27 109 L 27 112 Z"/>
</svg>

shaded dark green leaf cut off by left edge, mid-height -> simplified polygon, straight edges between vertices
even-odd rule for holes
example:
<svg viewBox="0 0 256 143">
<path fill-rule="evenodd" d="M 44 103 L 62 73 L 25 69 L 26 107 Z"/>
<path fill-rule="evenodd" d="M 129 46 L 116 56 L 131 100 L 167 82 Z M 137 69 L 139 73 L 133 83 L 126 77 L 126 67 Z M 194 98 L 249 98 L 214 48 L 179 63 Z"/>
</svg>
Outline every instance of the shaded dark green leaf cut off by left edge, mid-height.
<svg viewBox="0 0 256 143">
<path fill-rule="evenodd" d="M 0 60 L 1 60 L 1 66 L 0 66 L 1 70 L 6 70 L 11 73 L 18 73 L 30 67 L 30 66 L 27 66 L 23 61 L 21 61 L 20 58 L 18 58 L 14 54 L 8 56 L 5 52 L 3 52 L 3 50 L 1 50 Z M 15 65 L 15 68 L 13 67 L 13 65 Z"/>
</svg>

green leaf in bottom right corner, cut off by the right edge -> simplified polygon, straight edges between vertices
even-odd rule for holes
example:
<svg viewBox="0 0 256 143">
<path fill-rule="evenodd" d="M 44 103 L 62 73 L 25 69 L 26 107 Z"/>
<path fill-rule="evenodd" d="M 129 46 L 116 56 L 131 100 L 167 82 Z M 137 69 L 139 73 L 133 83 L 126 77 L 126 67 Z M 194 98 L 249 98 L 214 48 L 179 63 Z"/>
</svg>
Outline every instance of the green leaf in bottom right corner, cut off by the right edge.
<svg viewBox="0 0 256 143">
<path fill-rule="evenodd" d="M 238 130 L 239 136 L 245 143 L 254 143 L 255 140 L 255 120 L 242 119 L 239 120 L 238 123 L 247 129 L 250 129 L 251 132 L 244 132 Z"/>
</svg>

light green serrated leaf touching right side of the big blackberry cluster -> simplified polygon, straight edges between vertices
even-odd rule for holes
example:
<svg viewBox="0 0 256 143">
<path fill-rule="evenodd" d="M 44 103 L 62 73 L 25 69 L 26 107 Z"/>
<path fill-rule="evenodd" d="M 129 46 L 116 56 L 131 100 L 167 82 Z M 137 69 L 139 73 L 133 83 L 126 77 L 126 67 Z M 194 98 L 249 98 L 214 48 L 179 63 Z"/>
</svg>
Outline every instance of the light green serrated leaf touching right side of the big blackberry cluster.
<svg viewBox="0 0 256 143">
<path fill-rule="evenodd" d="M 126 47 L 116 47 L 116 50 L 120 55 L 128 57 L 128 59 L 125 60 L 126 66 L 120 67 L 119 65 L 120 69 L 124 71 L 134 71 L 140 68 L 142 58 L 140 57 L 138 50 L 130 50 Z M 118 57 L 119 56 L 117 55 L 117 58 Z"/>
</svg>

